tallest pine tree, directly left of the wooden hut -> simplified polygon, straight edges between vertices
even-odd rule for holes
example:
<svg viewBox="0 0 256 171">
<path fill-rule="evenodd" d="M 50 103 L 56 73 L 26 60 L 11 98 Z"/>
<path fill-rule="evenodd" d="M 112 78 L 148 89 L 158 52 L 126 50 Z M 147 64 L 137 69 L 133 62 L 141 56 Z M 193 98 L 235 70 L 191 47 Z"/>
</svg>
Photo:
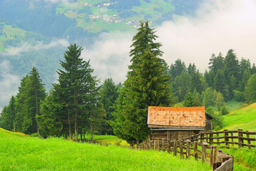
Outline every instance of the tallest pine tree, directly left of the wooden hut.
<svg viewBox="0 0 256 171">
<path fill-rule="evenodd" d="M 135 140 L 141 142 L 150 133 L 148 106 L 170 104 L 170 87 L 164 73 L 166 63 L 160 58 L 161 44 L 154 42 L 156 38 L 148 21 L 141 22 L 138 33 L 133 37 L 130 51 L 132 64 L 122 91 L 125 95 L 121 95 L 123 102 L 119 100 L 117 108 L 120 110 L 115 115 L 114 126 L 114 133 L 127 138 L 130 143 L 135 143 Z M 116 129 L 120 125 L 121 128 Z"/>
</svg>

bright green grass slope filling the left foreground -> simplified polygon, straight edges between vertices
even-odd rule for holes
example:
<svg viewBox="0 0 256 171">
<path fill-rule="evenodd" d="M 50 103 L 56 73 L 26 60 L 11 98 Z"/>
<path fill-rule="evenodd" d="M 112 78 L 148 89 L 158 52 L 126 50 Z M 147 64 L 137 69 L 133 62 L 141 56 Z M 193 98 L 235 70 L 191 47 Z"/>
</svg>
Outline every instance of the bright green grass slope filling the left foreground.
<svg viewBox="0 0 256 171">
<path fill-rule="evenodd" d="M 167 152 L 26 137 L 0 128 L 0 170 L 211 170 Z"/>
</svg>

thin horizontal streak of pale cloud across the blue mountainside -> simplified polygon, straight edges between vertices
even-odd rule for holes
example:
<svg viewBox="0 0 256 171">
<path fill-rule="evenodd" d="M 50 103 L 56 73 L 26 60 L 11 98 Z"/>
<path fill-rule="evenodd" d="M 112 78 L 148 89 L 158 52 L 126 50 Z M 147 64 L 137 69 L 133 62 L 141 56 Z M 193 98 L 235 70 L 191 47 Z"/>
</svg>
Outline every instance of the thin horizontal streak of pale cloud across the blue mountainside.
<svg viewBox="0 0 256 171">
<path fill-rule="evenodd" d="M 9 47 L 7 48 L 8 51 L 0 52 L 0 55 L 2 56 L 17 56 L 20 53 L 26 53 L 26 52 L 31 52 L 31 51 L 40 51 L 42 49 L 48 49 L 48 48 L 53 48 L 56 46 L 68 46 L 68 41 L 66 39 L 58 39 L 58 40 L 53 40 L 48 44 L 45 44 L 43 42 L 38 42 L 36 45 L 32 45 L 30 43 L 22 43 L 21 46 L 19 47 Z"/>
</svg>

